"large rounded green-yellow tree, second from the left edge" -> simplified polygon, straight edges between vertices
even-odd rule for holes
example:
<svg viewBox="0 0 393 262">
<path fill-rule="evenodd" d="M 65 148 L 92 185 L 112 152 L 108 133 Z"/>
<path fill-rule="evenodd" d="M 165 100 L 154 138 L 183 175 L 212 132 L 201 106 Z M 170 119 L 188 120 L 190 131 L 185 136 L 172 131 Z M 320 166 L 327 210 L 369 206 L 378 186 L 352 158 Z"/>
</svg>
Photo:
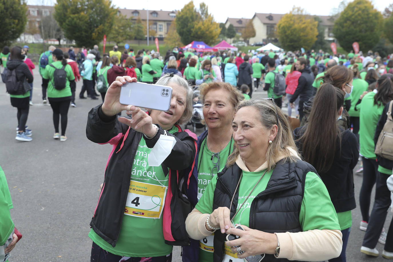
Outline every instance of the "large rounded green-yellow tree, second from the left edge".
<svg viewBox="0 0 393 262">
<path fill-rule="evenodd" d="M 55 19 L 77 46 L 93 46 L 109 34 L 117 10 L 110 0 L 57 0 Z"/>
</svg>

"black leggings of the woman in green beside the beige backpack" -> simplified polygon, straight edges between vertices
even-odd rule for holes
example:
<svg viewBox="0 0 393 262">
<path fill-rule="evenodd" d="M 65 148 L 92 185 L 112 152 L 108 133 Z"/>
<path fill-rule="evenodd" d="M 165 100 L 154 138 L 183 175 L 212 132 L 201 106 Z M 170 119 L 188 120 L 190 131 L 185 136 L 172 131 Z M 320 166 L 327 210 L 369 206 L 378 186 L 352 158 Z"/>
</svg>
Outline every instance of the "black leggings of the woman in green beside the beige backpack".
<svg viewBox="0 0 393 262">
<path fill-rule="evenodd" d="M 376 172 L 378 172 L 378 163 L 376 163 L 375 159 L 368 159 L 365 157 L 362 157 L 362 161 L 363 161 L 363 182 L 359 192 L 359 205 L 360 205 L 360 212 L 362 213 L 362 220 L 365 222 L 369 222 L 371 191 L 373 190 L 373 186 L 375 184 Z M 375 191 L 375 193 L 376 192 L 377 190 Z M 380 233 L 381 231 L 379 231 L 379 234 Z"/>
</svg>

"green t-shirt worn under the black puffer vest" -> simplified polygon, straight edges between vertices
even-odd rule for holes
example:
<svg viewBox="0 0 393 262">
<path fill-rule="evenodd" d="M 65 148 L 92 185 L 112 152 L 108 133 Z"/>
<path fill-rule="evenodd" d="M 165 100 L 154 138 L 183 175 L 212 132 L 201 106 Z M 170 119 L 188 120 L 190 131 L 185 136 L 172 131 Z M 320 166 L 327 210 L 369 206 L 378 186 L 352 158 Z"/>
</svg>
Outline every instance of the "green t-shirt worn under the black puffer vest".
<svg viewBox="0 0 393 262">
<path fill-rule="evenodd" d="M 250 191 L 253 189 L 259 178 L 265 170 L 260 172 L 245 172 L 243 171 L 242 181 L 239 185 L 239 206 L 245 201 Z M 253 190 L 250 197 L 243 204 L 241 210 L 233 218 L 233 224 L 241 224 L 249 226 L 250 208 L 252 200 L 266 189 L 266 185 L 270 180 L 273 170 L 266 172 L 257 187 Z M 210 214 L 213 212 L 213 196 L 217 184 L 217 176 L 215 176 L 209 185 L 202 198 L 196 204 L 196 209 L 203 214 Z M 303 200 L 301 202 L 299 222 L 303 231 L 312 229 L 340 229 L 336 210 L 330 200 L 329 192 L 323 184 L 321 178 L 314 172 L 308 172 L 305 178 L 305 188 Z M 213 261 L 213 251 L 210 252 L 210 247 L 213 248 L 213 237 L 208 236 L 200 242 L 199 261 L 211 262 Z M 201 244 L 203 243 L 204 246 Z M 210 246 L 211 245 L 211 246 Z M 214 250 L 214 249 L 213 249 Z M 228 250 L 228 249 L 227 249 Z"/>
</svg>

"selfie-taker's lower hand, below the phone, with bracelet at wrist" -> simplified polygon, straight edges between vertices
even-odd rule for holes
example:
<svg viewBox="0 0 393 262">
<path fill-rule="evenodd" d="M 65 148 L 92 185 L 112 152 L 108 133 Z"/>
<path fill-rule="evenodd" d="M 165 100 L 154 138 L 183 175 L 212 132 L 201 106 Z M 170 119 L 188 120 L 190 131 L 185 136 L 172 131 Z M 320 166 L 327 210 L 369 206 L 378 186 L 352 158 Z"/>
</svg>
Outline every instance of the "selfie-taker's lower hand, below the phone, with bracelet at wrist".
<svg viewBox="0 0 393 262">
<path fill-rule="evenodd" d="M 132 129 L 145 134 L 147 137 L 153 137 L 156 134 L 157 127 L 152 124 L 152 118 L 145 111 L 136 106 L 126 106 L 127 115 L 132 115 L 132 119 L 119 117 L 118 121 L 130 126 Z"/>
</svg>

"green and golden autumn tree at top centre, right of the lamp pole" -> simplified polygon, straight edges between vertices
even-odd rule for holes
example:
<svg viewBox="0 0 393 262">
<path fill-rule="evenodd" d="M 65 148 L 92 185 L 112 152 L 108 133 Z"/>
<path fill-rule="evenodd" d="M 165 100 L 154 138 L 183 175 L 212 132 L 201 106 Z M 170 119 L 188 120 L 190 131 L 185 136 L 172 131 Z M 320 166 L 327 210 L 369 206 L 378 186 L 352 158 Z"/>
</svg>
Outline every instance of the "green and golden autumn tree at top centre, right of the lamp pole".
<svg viewBox="0 0 393 262">
<path fill-rule="evenodd" d="M 176 15 L 176 31 L 184 44 L 192 41 L 203 41 L 208 45 L 215 44 L 220 35 L 220 27 L 213 15 L 209 14 L 208 6 L 200 3 L 196 10 L 193 1 L 184 5 Z"/>
</svg>

